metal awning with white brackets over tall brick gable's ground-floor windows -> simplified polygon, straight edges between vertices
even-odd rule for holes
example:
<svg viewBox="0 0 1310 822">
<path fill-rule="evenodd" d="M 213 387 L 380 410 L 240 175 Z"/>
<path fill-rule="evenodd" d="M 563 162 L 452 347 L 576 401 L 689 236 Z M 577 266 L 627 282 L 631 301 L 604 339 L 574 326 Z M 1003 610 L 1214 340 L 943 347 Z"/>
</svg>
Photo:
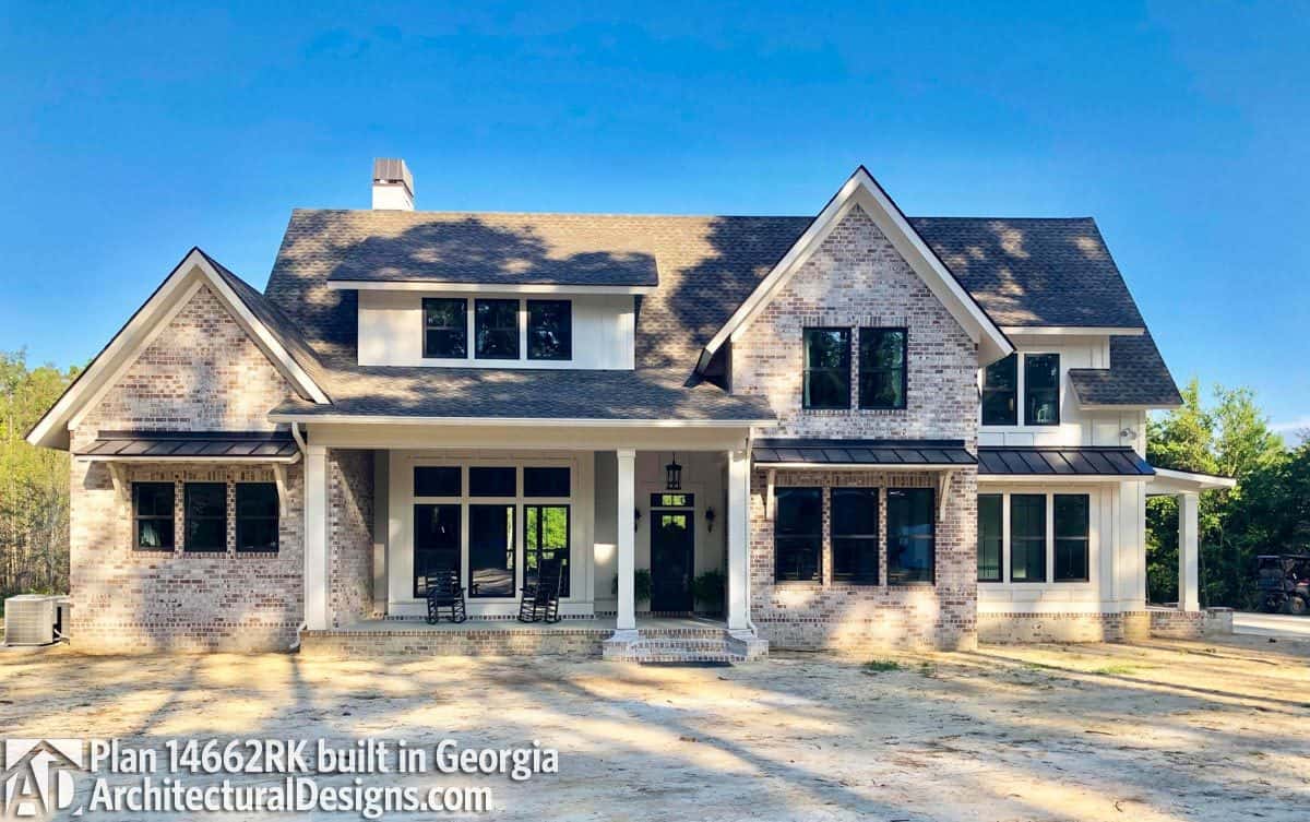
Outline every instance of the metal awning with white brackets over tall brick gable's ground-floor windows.
<svg viewBox="0 0 1310 822">
<path fill-rule="evenodd" d="M 769 471 L 764 503 L 768 520 L 773 520 L 773 483 L 779 470 L 933 471 L 938 475 L 938 516 L 945 516 L 952 474 L 977 462 L 964 440 L 762 438 L 752 442 L 751 459 Z"/>
</svg>

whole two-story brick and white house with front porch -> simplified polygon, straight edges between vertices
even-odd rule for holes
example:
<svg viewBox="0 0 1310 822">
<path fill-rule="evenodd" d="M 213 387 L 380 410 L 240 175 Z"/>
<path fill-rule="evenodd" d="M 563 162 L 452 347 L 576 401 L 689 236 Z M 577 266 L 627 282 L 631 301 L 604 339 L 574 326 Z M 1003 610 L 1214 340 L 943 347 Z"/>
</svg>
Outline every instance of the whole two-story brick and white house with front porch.
<svg viewBox="0 0 1310 822">
<path fill-rule="evenodd" d="M 907 217 L 862 168 L 814 217 L 427 212 L 377 161 L 263 293 L 190 251 L 29 441 L 72 454 L 79 647 L 757 656 L 1203 630 L 1226 480 L 1142 457 L 1178 403 L 1090 219 Z M 566 619 L 520 627 L 546 560 Z M 417 619 L 439 568 L 462 626 Z"/>
</svg>

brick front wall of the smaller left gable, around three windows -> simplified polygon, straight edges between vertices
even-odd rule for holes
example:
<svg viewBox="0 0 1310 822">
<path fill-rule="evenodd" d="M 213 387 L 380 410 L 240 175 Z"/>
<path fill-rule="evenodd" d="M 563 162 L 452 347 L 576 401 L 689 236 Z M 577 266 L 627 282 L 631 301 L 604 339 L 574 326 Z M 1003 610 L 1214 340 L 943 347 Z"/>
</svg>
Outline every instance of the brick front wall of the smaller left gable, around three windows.
<svg viewBox="0 0 1310 822">
<path fill-rule="evenodd" d="M 72 431 L 72 450 L 98 431 L 270 431 L 269 408 L 291 385 L 207 288 L 198 291 Z M 138 551 L 130 483 L 109 467 L 71 461 L 72 641 L 88 652 L 284 649 L 304 619 L 304 483 L 288 469 L 290 509 L 276 554 L 237 554 L 233 483 L 271 482 L 269 466 L 135 465 L 127 479 L 174 482 L 176 548 Z M 187 480 L 229 483 L 228 550 L 187 554 Z"/>
</svg>

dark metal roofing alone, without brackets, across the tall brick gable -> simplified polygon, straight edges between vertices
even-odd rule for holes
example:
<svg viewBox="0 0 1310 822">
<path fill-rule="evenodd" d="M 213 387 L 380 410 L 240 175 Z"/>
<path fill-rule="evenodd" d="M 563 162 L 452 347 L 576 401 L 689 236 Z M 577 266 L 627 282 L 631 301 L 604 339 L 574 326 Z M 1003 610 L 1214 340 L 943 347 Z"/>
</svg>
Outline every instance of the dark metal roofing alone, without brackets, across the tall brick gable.
<svg viewBox="0 0 1310 822">
<path fill-rule="evenodd" d="M 977 462 L 963 440 L 756 440 L 757 465 L 968 466 Z"/>
</svg>

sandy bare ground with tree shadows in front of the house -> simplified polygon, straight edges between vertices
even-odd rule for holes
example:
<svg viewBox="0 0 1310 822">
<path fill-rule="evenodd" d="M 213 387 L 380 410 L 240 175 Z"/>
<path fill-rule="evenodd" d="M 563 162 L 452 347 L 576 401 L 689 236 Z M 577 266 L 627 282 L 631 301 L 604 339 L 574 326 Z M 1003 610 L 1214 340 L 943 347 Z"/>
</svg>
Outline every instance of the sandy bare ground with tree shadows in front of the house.
<svg viewBox="0 0 1310 822">
<path fill-rule="evenodd" d="M 673 669 L 8 652 L 0 729 L 156 747 L 170 737 L 322 736 L 559 749 L 558 775 L 523 783 L 392 777 L 487 785 L 498 819 L 1230 822 L 1310 813 L 1310 643 L 1234 636 L 887 660 L 900 668 L 872 673 L 808 654 Z"/>
</svg>

